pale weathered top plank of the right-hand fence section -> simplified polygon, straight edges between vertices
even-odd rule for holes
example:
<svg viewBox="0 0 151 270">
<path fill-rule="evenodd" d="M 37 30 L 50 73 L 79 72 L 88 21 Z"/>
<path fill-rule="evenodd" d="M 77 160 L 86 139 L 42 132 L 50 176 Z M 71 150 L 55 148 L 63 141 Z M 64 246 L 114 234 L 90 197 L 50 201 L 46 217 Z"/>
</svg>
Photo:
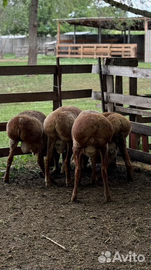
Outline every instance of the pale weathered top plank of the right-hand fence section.
<svg viewBox="0 0 151 270">
<path fill-rule="evenodd" d="M 92 73 L 99 73 L 96 64 L 92 66 Z M 151 79 L 151 68 L 103 65 L 102 73 L 105 75 L 117 75 L 117 76 L 125 76 L 125 77 Z"/>
</svg>

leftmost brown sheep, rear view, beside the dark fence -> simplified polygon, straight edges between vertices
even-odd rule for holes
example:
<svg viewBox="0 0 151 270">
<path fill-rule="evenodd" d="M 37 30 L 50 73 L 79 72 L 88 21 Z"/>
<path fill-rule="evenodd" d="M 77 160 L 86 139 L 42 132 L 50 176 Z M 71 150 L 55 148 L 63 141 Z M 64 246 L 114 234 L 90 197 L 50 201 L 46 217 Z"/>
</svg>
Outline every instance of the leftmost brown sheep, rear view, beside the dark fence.
<svg viewBox="0 0 151 270">
<path fill-rule="evenodd" d="M 25 110 L 16 116 L 10 118 L 6 125 L 7 135 L 10 138 L 10 151 L 7 158 L 4 181 L 9 181 L 9 170 L 13 160 L 14 151 L 21 141 L 21 150 L 23 153 L 31 151 L 37 154 L 37 162 L 45 173 L 44 156 L 47 149 L 47 136 L 43 132 L 43 122 L 46 116 L 36 110 Z"/>
</svg>

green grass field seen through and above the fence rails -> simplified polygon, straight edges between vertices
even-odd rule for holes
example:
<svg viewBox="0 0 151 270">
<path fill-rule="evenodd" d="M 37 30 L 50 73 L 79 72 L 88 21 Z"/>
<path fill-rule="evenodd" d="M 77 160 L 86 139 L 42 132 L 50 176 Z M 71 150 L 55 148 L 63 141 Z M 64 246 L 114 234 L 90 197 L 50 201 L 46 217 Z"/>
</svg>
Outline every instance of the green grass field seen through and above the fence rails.
<svg viewBox="0 0 151 270">
<path fill-rule="evenodd" d="M 37 64 L 56 64 L 55 56 L 38 55 Z M 60 64 L 97 64 L 97 59 L 60 58 Z M 27 65 L 27 58 L 15 58 L 15 55 L 5 55 L 0 59 L 0 66 Z M 139 67 L 151 68 L 151 63 L 140 62 Z M 100 90 L 98 74 L 64 74 L 62 76 L 62 90 L 86 89 Z M 123 79 L 124 94 L 129 93 L 129 79 Z M 0 76 L 0 93 L 52 91 L 53 75 L 34 76 Z M 151 93 L 151 80 L 138 79 L 138 93 Z M 63 100 L 63 105 L 75 105 L 81 109 L 96 109 L 97 100 L 91 98 Z M 48 115 L 52 111 L 52 101 L 22 102 L 0 104 L 0 121 L 7 121 L 20 111 L 35 109 Z M 9 146 L 6 132 L 0 132 L 0 147 Z M 20 157 L 16 157 L 20 158 Z M 21 157 L 25 158 L 25 157 Z M 1 158 L 3 159 L 3 158 Z M 1 163 L 1 161 L 0 161 Z"/>
</svg>

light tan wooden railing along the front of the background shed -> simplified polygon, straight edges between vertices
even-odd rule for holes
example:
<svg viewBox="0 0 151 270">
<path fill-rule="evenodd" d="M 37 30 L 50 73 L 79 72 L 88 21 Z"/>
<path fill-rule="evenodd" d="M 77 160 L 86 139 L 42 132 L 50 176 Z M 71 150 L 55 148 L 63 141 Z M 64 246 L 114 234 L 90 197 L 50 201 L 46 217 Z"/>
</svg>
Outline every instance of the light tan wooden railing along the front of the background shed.
<svg viewBox="0 0 151 270">
<path fill-rule="evenodd" d="M 136 57 L 137 44 L 58 44 L 57 57 Z"/>
</svg>

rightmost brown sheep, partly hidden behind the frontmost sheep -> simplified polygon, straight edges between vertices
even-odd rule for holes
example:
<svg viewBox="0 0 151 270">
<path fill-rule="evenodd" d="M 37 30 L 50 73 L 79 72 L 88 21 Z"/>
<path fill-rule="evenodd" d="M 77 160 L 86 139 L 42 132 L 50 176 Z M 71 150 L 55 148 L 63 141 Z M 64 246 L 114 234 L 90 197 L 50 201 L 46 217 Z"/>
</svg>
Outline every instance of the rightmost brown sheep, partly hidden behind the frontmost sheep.
<svg viewBox="0 0 151 270">
<path fill-rule="evenodd" d="M 127 168 L 128 181 L 133 181 L 132 166 L 130 157 L 126 147 L 126 137 L 131 132 L 131 122 L 122 114 L 116 112 L 103 112 L 102 113 L 113 125 L 114 134 L 112 143 L 114 142 L 122 154 Z"/>
</svg>

